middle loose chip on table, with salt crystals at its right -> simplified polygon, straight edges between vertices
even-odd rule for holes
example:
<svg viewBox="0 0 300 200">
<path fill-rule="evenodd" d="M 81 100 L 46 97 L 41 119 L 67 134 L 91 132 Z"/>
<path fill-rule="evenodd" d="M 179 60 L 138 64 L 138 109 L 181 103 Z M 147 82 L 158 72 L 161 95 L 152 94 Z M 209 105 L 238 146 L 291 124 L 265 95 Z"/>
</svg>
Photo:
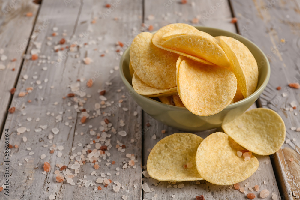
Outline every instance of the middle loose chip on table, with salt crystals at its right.
<svg viewBox="0 0 300 200">
<path fill-rule="evenodd" d="M 225 133 L 209 135 L 199 145 L 196 167 L 203 179 L 216 185 L 232 185 L 244 181 L 258 168 L 259 162 L 253 155 L 250 160 L 238 157 L 240 145 Z"/>
</svg>

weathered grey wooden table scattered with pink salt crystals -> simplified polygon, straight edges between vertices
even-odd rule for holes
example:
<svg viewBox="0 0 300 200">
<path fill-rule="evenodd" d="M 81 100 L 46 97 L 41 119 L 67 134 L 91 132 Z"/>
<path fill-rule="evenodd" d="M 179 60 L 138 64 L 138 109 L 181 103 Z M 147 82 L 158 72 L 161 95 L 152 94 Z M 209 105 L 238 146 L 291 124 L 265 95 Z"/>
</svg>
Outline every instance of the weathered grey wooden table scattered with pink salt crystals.
<svg viewBox="0 0 300 200">
<path fill-rule="evenodd" d="M 125 196 L 127 199 L 155 199 L 156 196 L 156 199 L 195 199 L 201 194 L 205 199 L 245 199 L 245 194 L 229 186 L 192 181 L 184 182 L 184 187 L 179 189 L 176 188 L 179 183 L 160 182 L 142 175 L 149 149 L 161 138 L 181 131 L 155 121 L 137 106 L 124 88 L 117 66 L 122 52 L 138 33 L 148 31 L 150 25 L 155 31 L 176 22 L 194 22 L 194 25 L 238 32 L 268 56 L 271 78 L 256 105 L 279 113 L 286 124 L 286 142 L 270 157 L 257 156 L 258 171 L 241 182 L 241 186 L 249 182 L 248 187 L 258 184 L 260 191 L 268 189 L 278 199 L 300 199 L 300 136 L 291 129 L 300 127 L 300 93 L 288 87 L 289 83 L 300 79 L 299 0 L 188 0 L 186 4 L 178 0 L 44 0 L 41 4 L 32 0 L 1 0 L 1 6 L 0 48 L 7 59 L 3 56 L 0 61 L 5 66 L 0 71 L 0 185 L 5 183 L 7 162 L 4 161 L 10 160 L 9 196 L 4 195 L 3 190 L 1 199 L 50 199 L 50 195 L 63 200 L 126 199 Z M 231 23 L 232 17 L 238 19 L 236 24 Z M 59 47 L 62 38 L 66 42 Z M 118 41 L 124 46 L 117 44 Z M 73 43 L 75 47 L 71 46 Z M 32 60 L 31 53 L 37 52 L 39 58 Z M 85 57 L 93 61 L 84 64 Z M 14 58 L 16 60 L 11 61 Z M 93 80 L 92 87 L 86 85 L 89 79 Z M 276 90 L 278 86 L 281 90 Z M 11 95 L 10 89 L 14 87 L 16 91 Z M 71 89 L 79 95 L 75 100 L 66 97 L 73 93 Z M 96 104 L 103 100 L 99 99 L 99 92 L 104 89 L 106 105 Z M 19 97 L 20 92 L 28 94 Z M 290 111 L 293 101 L 297 109 Z M 106 108 L 97 109 L 99 106 Z M 13 114 L 7 112 L 11 107 L 16 108 Z M 90 115 L 86 126 L 81 123 L 82 109 Z M 107 113 L 111 115 L 105 116 Z M 69 166 L 75 162 L 74 154 L 78 156 L 77 152 L 87 147 L 94 149 L 95 134 L 102 133 L 105 118 L 116 129 L 116 134 L 107 131 L 110 137 L 105 143 L 111 146 L 106 153 L 110 155 L 99 158 L 97 170 L 90 162 L 81 166 L 73 178 L 75 185 L 66 180 L 56 182 L 55 170 L 59 170 L 56 164 Z M 27 130 L 18 133 L 20 127 Z M 58 134 L 52 132 L 55 127 Z M 5 129 L 9 129 L 9 143 L 18 145 L 10 149 L 9 159 L 4 158 Z M 22 129 L 18 130 L 23 132 Z M 164 129 L 167 133 L 162 134 Z M 118 134 L 122 130 L 127 136 Z M 196 134 L 204 138 L 218 130 Z M 53 144 L 56 147 L 51 154 Z M 125 151 L 118 151 L 117 144 L 126 145 Z M 127 165 L 124 163 L 130 160 L 126 154 L 134 154 L 135 168 L 123 169 Z M 45 158 L 41 159 L 41 155 Z M 289 161 L 290 158 L 294 161 Z M 44 174 L 45 161 L 50 163 L 51 170 Z M 70 170 L 74 174 L 74 170 Z M 91 175 L 93 171 L 97 175 Z M 112 180 L 107 187 L 96 183 L 102 173 L 104 178 Z M 80 179 L 96 184 L 78 187 Z M 115 192 L 113 188 L 118 182 L 122 187 Z M 80 183 L 84 184 L 82 180 Z M 144 183 L 153 188 L 151 193 L 142 190 Z M 102 187 L 101 191 L 95 190 L 98 186 Z M 249 193 L 248 187 L 245 188 Z M 259 192 L 254 193 L 259 196 Z M 272 199 L 272 195 L 267 199 Z"/>
</svg>

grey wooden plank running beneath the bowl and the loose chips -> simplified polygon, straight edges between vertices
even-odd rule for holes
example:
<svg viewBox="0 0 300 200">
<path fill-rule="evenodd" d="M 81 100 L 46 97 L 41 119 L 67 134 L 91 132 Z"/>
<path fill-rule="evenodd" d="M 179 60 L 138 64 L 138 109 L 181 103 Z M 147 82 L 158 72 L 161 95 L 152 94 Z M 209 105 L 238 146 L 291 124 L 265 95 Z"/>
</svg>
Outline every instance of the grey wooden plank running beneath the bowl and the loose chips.
<svg viewBox="0 0 300 200">
<path fill-rule="evenodd" d="M 187 4 L 179 4 L 177 2 L 173 2 L 169 7 L 167 7 L 167 9 L 165 9 L 165 7 L 163 6 L 157 6 L 157 4 L 159 4 L 158 1 L 145 1 L 145 22 L 148 24 L 157 25 L 155 26 L 155 29 L 158 29 L 161 26 L 167 25 L 169 23 L 183 22 L 191 24 L 191 20 L 193 18 L 195 18 L 197 15 L 201 15 L 201 17 L 199 17 L 199 23 L 195 25 L 205 25 L 236 32 L 235 25 L 230 23 L 232 14 L 227 1 L 194 1 L 195 6 L 192 6 L 190 1 L 188 2 L 189 3 Z M 217 3 L 219 3 L 220 6 L 215 8 L 216 10 L 214 10 L 213 8 L 214 6 L 217 6 Z M 211 11 L 211 16 L 207 17 L 207 19 L 204 18 L 206 11 L 209 13 L 211 9 L 213 10 Z M 164 19 L 164 16 L 162 16 L 161 13 L 164 13 L 167 18 Z M 155 21 L 147 20 L 147 16 L 151 14 L 155 16 Z M 253 104 L 250 109 L 253 109 L 255 107 L 256 105 Z M 143 138 L 143 165 L 145 166 L 150 149 L 153 148 L 153 146 L 160 139 L 170 134 L 180 133 L 182 131 L 167 127 L 164 124 L 155 121 L 146 113 L 144 113 L 143 116 L 144 128 L 146 127 L 147 123 L 150 124 L 150 128 L 148 128 L 149 130 L 147 130 Z M 167 133 L 162 134 L 161 130 L 164 129 L 167 131 Z M 217 131 L 222 131 L 222 129 L 212 129 L 195 134 L 201 136 L 202 138 L 205 138 L 209 134 Z M 156 135 L 156 139 L 152 139 L 152 136 L 154 134 Z M 270 157 L 257 155 L 256 157 L 259 160 L 259 169 L 250 178 L 241 182 L 241 186 L 244 187 L 247 182 L 249 182 L 249 187 L 253 187 L 254 185 L 258 184 L 261 190 L 268 189 L 271 193 L 275 192 L 277 196 L 280 196 Z M 268 184 L 264 184 L 264 181 L 268 182 Z M 196 181 L 184 182 L 184 188 L 182 189 L 174 188 L 174 185 L 178 185 L 179 183 L 173 184 L 172 187 L 167 188 L 167 186 L 170 185 L 168 182 L 159 182 L 152 178 L 144 178 L 143 183 L 147 183 L 150 188 L 153 188 L 155 190 L 151 193 L 144 192 L 144 198 L 146 199 L 152 199 L 155 194 L 158 195 L 157 199 L 173 199 L 173 195 L 175 195 L 174 199 L 195 199 L 196 196 L 199 196 L 201 194 L 204 195 L 205 199 L 246 198 L 245 194 L 234 189 L 229 189 L 229 186 L 218 186 L 210 184 L 207 181 L 200 181 L 200 184 L 196 184 Z M 250 190 L 248 190 L 248 187 L 245 188 L 247 188 L 247 193 L 252 193 L 250 192 Z M 259 192 L 253 193 L 255 193 L 256 196 L 259 196 Z"/>
</svg>

